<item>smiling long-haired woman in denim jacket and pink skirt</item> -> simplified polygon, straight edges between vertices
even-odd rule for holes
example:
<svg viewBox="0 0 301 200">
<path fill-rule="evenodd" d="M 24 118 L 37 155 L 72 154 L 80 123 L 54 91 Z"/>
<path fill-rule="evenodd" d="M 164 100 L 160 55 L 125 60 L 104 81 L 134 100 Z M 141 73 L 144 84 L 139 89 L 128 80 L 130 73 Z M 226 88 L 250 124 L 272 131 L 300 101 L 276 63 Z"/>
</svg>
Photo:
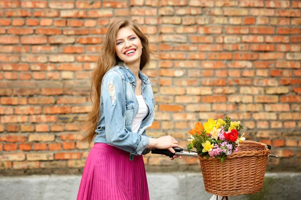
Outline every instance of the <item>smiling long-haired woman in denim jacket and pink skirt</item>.
<svg viewBox="0 0 301 200">
<path fill-rule="evenodd" d="M 142 154 L 154 147 L 172 152 L 181 147 L 170 135 L 145 134 L 155 116 L 152 86 L 141 72 L 149 60 L 148 40 L 138 24 L 130 19 L 113 21 L 92 77 L 94 102 L 83 140 L 95 144 L 77 200 L 149 199 Z"/>
</svg>

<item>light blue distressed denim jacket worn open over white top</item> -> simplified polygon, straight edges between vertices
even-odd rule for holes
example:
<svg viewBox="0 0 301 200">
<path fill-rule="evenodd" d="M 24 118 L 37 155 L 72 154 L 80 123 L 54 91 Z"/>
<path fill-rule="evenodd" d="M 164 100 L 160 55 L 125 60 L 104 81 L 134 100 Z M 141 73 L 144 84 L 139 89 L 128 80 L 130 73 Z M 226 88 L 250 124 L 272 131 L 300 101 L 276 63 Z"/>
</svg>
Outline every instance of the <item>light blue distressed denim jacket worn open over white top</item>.
<svg viewBox="0 0 301 200">
<path fill-rule="evenodd" d="M 138 112 L 139 104 L 135 95 L 136 77 L 123 63 L 118 63 L 103 77 L 99 121 L 94 143 L 108 143 L 134 155 L 146 154 L 149 139 L 145 129 L 152 125 L 155 117 L 155 100 L 148 77 L 139 70 L 142 80 L 142 96 L 149 108 L 148 115 L 142 120 L 137 133 L 132 132 L 132 122 Z"/>
</svg>

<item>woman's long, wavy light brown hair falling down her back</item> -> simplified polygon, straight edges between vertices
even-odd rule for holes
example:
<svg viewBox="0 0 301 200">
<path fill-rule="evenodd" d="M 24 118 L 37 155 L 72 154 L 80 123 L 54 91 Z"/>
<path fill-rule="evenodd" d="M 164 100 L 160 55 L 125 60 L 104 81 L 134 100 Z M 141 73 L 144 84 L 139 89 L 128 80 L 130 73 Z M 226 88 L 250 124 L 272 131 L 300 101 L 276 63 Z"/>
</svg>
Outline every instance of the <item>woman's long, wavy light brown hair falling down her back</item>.
<svg viewBox="0 0 301 200">
<path fill-rule="evenodd" d="M 117 62 L 121 61 L 115 50 L 116 46 L 116 34 L 122 27 L 130 27 L 140 38 L 143 47 L 140 57 L 140 69 L 145 67 L 150 60 L 150 54 L 152 51 L 148 46 L 148 39 L 140 30 L 139 25 L 132 19 L 116 19 L 114 20 L 107 31 L 106 37 L 100 48 L 100 55 L 97 60 L 97 65 L 92 73 L 92 83 L 90 88 L 90 99 L 92 101 L 92 110 L 88 113 L 87 118 L 82 124 L 86 127 L 82 133 L 83 138 L 81 141 L 92 142 L 96 133 L 97 123 L 99 120 L 100 109 L 100 94 L 101 94 L 101 82 L 104 74 L 112 68 Z M 94 86 L 94 101 L 92 100 L 92 88 Z"/>
</svg>

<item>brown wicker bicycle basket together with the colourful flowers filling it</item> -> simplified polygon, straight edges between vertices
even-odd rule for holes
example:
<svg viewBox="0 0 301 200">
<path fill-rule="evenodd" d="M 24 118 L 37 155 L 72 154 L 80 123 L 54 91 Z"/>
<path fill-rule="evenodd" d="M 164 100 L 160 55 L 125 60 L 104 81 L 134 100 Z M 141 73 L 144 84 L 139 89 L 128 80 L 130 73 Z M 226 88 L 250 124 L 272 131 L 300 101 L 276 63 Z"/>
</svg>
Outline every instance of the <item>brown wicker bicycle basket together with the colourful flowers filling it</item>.
<svg viewBox="0 0 301 200">
<path fill-rule="evenodd" d="M 205 190 L 219 196 L 256 193 L 263 178 L 270 150 L 266 144 L 246 141 L 238 132 L 240 121 L 230 117 L 197 122 L 189 131 L 187 149 L 195 148 L 203 174 Z"/>
</svg>

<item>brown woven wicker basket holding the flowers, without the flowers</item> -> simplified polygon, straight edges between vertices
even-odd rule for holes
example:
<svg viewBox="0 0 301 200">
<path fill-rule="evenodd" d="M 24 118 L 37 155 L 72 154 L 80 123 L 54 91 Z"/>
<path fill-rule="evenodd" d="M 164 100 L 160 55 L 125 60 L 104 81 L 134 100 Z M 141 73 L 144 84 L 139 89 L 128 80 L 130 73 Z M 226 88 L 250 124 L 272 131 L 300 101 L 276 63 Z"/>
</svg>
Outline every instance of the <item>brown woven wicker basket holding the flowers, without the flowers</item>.
<svg viewBox="0 0 301 200">
<path fill-rule="evenodd" d="M 220 159 L 199 157 L 205 190 L 219 196 L 256 193 L 262 189 L 270 150 L 266 144 L 243 141 L 238 151 Z"/>
</svg>

